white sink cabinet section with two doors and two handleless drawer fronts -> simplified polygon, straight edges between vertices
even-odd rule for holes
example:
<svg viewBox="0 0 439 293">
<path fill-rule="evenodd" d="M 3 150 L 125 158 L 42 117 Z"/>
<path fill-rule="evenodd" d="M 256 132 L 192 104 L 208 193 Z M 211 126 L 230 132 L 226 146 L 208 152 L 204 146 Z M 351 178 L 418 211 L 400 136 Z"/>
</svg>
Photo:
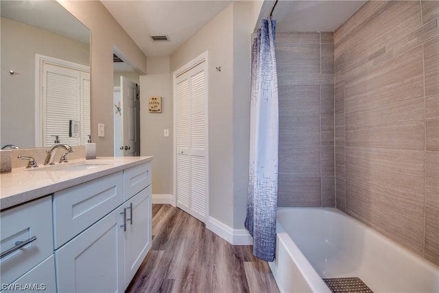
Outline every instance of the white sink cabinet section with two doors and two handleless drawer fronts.
<svg viewBox="0 0 439 293">
<path fill-rule="evenodd" d="M 150 175 L 147 162 L 54 194 L 58 292 L 125 291 L 151 247 Z"/>
</svg>

